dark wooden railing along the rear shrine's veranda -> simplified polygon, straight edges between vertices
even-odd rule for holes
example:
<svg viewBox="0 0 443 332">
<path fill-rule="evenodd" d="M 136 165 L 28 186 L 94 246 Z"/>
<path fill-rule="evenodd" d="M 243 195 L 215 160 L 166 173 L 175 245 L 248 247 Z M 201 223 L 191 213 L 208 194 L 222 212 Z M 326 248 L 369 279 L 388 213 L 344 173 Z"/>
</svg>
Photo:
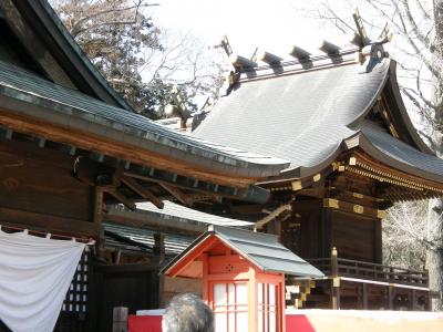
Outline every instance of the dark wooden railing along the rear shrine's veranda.
<svg viewBox="0 0 443 332">
<path fill-rule="evenodd" d="M 400 283 L 418 287 L 427 287 L 426 271 L 414 271 L 403 268 L 363 262 L 343 258 L 315 258 L 308 261 L 328 277 L 349 277 Z"/>
</svg>

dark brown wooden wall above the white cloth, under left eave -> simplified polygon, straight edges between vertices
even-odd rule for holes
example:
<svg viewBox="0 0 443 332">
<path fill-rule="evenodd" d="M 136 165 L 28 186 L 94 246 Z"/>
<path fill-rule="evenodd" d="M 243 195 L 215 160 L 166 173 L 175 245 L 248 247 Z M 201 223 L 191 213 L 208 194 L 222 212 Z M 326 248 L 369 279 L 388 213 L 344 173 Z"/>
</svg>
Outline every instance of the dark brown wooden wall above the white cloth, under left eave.
<svg viewBox="0 0 443 332">
<path fill-rule="evenodd" d="M 74 160 L 35 142 L 0 139 L 0 222 L 51 230 L 65 221 L 68 231 L 76 220 L 91 221 L 93 187 L 73 176 Z"/>
</svg>

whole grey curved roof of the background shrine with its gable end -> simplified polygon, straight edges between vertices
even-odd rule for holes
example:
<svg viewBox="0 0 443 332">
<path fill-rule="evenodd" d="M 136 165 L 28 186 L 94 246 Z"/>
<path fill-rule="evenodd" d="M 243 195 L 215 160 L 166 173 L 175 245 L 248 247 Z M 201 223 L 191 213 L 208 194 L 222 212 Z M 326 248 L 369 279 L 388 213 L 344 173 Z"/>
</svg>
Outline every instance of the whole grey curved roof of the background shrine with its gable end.
<svg viewBox="0 0 443 332">
<path fill-rule="evenodd" d="M 244 70 L 193 135 L 290 160 L 280 178 L 311 176 L 358 146 L 381 163 L 443 183 L 443 162 L 430 155 L 405 112 L 395 62 L 360 64 L 354 55 Z M 367 120 L 382 92 L 399 138 Z"/>
</svg>

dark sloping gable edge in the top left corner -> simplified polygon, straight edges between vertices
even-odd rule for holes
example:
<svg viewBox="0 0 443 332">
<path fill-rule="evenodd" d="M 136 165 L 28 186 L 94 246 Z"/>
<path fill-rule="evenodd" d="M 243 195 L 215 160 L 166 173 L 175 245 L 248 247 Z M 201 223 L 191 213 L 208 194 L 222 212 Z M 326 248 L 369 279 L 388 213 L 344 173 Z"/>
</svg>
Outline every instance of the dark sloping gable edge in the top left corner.
<svg viewBox="0 0 443 332">
<path fill-rule="evenodd" d="M 4 0 L 2 7 L 4 19 L 54 82 L 65 81 L 61 79 L 65 75 L 79 91 L 132 111 L 83 53 L 47 0 Z M 53 72 L 49 58 L 54 59 L 63 73 Z"/>
</svg>

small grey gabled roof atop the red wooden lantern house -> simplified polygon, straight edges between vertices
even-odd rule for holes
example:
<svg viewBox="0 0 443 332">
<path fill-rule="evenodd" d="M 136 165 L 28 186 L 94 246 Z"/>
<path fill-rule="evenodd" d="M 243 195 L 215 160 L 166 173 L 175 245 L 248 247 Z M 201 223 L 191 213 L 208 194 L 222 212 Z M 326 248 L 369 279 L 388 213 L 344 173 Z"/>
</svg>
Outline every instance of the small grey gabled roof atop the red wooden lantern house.
<svg viewBox="0 0 443 332">
<path fill-rule="evenodd" d="M 168 274 L 176 263 L 212 237 L 219 239 L 264 272 L 313 278 L 324 276 L 320 270 L 285 248 L 278 241 L 277 236 L 220 226 L 210 226 L 207 232 L 168 262 L 161 273 Z"/>
</svg>

